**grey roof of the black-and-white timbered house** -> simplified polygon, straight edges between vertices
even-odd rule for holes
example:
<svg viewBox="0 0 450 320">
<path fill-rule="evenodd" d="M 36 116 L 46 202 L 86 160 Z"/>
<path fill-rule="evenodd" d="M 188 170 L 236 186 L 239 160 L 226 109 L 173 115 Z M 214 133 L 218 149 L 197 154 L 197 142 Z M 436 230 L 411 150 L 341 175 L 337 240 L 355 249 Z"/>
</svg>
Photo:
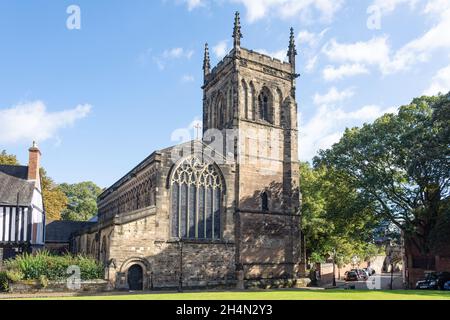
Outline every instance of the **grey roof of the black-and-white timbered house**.
<svg viewBox="0 0 450 320">
<path fill-rule="evenodd" d="M 31 205 L 35 182 L 27 176 L 26 166 L 0 165 L 0 205 Z"/>
</svg>

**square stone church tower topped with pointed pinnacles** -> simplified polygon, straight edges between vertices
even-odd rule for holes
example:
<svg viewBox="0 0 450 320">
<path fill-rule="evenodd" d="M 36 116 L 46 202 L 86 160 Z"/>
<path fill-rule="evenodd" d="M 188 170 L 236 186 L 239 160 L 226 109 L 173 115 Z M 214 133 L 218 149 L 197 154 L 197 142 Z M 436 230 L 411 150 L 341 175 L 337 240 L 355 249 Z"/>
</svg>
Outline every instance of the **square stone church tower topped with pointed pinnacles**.
<svg viewBox="0 0 450 320">
<path fill-rule="evenodd" d="M 288 62 L 244 49 L 242 38 L 236 13 L 233 49 L 212 70 L 205 46 L 204 140 L 223 142 L 236 164 L 237 267 L 245 278 L 296 277 L 304 266 L 294 32 Z"/>
</svg>

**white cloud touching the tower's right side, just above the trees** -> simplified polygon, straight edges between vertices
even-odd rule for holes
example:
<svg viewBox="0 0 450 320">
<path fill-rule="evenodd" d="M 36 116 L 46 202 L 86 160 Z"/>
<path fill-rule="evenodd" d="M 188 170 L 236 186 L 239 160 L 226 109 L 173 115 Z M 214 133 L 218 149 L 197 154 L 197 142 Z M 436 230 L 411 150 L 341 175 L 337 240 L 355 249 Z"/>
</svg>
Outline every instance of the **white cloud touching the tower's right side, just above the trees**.
<svg viewBox="0 0 450 320">
<path fill-rule="evenodd" d="M 339 142 L 345 128 L 361 126 L 393 112 L 396 112 L 396 108 L 376 105 L 363 106 L 351 112 L 322 105 L 309 121 L 305 122 L 300 116 L 299 157 L 302 161 L 310 161 L 319 150 L 328 149 Z"/>
</svg>

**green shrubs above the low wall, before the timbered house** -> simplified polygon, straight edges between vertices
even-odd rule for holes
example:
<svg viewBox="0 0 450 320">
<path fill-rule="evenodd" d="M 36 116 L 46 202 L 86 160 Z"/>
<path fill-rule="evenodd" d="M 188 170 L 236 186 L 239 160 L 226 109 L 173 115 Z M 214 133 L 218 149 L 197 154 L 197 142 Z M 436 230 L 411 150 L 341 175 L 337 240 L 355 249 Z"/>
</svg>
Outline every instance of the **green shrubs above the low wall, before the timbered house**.
<svg viewBox="0 0 450 320">
<path fill-rule="evenodd" d="M 80 268 L 81 280 L 103 278 L 101 264 L 82 255 L 54 256 L 47 251 L 41 251 L 34 255 L 26 253 L 5 262 L 8 271 L 21 272 L 26 280 L 39 280 L 41 276 L 47 277 L 48 280 L 64 280 L 69 276 L 67 269 L 70 266 Z"/>
</svg>

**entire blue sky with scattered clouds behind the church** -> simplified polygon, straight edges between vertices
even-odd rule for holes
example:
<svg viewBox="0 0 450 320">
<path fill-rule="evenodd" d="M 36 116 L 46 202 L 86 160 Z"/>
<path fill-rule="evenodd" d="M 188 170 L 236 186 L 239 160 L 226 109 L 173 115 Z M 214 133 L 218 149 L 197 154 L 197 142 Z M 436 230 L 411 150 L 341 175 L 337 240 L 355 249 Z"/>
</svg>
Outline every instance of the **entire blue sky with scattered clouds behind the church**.
<svg viewBox="0 0 450 320">
<path fill-rule="evenodd" d="M 69 29 L 70 5 L 81 29 Z M 0 150 L 38 140 L 57 182 L 106 187 L 202 114 L 213 64 L 242 46 L 284 59 L 295 28 L 302 160 L 348 126 L 450 90 L 448 0 L 72 0 L 0 2 Z M 72 11 L 71 11 L 72 12 Z"/>
</svg>

